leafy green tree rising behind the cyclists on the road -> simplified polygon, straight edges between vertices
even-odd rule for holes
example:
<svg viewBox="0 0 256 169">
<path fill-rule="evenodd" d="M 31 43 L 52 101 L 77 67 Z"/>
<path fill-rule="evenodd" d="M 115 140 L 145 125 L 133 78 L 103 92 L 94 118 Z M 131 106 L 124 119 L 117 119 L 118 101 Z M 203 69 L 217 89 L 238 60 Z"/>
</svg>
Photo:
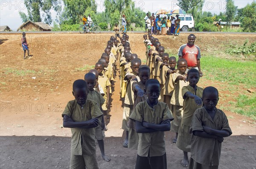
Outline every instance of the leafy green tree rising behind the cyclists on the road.
<svg viewBox="0 0 256 169">
<path fill-rule="evenodd" d="M 63 0 L 64 11 L 62 13 L 62 21 L 70 20 L 72 24 L 80 23 L 84 11 L 88 7 L 96 13 L 97 6 L 95 0 Z"/>
</svg>

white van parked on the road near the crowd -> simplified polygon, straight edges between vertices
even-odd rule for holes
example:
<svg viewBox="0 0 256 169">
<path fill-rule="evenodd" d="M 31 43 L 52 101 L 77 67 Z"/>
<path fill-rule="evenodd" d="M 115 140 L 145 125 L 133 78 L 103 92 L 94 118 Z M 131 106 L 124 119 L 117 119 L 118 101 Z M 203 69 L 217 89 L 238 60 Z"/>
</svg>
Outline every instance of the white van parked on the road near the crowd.
<svg viewBox="0 0 256 169">
<path fill-rule="evenodd" d="M 175 15 L 174 15 L 175 16 Z M 192 14 L 179 14 L 180 18 L 180 30 L 181 31 L 188 31 L 189 28 L 193 29 L 195 26 L 194 18 Z"/>
</svg>

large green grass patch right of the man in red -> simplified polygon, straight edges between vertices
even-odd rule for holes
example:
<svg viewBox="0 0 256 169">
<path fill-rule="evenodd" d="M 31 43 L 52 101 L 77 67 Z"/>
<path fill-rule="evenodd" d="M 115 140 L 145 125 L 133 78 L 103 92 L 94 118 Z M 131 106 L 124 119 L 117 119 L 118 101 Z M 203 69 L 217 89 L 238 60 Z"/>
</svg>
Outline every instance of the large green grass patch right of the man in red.
<svg viewBox="0 0 256 169">
<path fill-rule="evenodd" d="M 215 56 L 202 56 L 201 69 L 209 80 L 227 82 L 251 88 L 256 86 L 256 62 L 222 59 Z"/>
</svg>

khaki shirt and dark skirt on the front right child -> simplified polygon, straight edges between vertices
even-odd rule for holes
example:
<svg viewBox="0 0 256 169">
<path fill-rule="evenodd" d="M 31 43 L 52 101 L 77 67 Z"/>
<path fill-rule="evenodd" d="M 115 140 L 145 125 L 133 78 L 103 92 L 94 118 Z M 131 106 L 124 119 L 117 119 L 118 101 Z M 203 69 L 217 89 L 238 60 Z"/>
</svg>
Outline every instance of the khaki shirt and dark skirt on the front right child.
<svg viewBox="0 0 256 169">
<path fill-rule="evenodd" d="M 204 124 L 214 130 L 226 130 L 231 135 L 232 131 L 229 127 L 227 116 L 222 110 L 215 108 L 215 111 L 216 113 L 212 120 L 204 107 L 195 110 L 190 132 L 204 131 L 202 127 L 202 124 Z M 192 134 L 191 157 L 197 163 L 218 166 L 221 158 L 221 143 L 215 138 L 202 138 Z"/>
</svg>

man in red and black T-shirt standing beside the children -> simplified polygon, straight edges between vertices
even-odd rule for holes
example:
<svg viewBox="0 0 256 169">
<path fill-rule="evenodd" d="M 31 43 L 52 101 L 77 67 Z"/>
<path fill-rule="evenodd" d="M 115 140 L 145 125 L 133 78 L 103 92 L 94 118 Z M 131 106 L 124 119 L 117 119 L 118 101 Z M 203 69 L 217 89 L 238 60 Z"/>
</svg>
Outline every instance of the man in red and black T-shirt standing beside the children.
<svg viewBox="0 0 256 169">
<path fill-rule="evenodd" d="M 200 48 L 195 45 L 195 35 L 190 34 L 188 37 L 188 43 L 180 46 L 179 59 L 186 59 L 188 62 L 188 69 L 196 68 L 199 71 L 200 77 L 203 76 L 200 66 L 201 52 Z"/>
</svg>

